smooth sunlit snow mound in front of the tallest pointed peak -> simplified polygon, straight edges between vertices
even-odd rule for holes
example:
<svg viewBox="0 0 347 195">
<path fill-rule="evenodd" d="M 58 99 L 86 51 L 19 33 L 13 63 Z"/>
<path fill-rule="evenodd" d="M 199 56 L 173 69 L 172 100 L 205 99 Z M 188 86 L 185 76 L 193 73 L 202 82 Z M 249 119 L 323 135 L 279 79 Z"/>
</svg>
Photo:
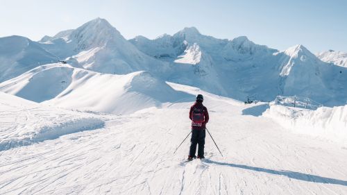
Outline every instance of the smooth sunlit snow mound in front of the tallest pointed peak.
<svg viewBox="0 0 347 195">
<path fill-rule="evenodd" d="M 74 82 L 64 92 L 45 103 L 64 108 L 126 115 L 191 97 L 184 92 L 173 90 L 163 80 L 154 78 L 147 71 L 119 76 L 77 69 L 72 79 Z"/>
</svg>

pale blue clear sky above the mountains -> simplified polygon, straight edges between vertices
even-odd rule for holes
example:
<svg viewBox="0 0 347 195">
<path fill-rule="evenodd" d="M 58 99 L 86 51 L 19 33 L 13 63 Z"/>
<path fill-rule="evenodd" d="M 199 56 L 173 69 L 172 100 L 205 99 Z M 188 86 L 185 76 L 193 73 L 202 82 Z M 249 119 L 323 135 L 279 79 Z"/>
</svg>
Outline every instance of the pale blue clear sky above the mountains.
<svg viewBox="0 0 347 195">
<path fill-rule="evenodd" d="M 105 18 L 127 39 L 155 38 L 195 26 L 205 35 L 246 35 L 283 50 L 303 44 L 312 52 L 347 51 L 346 0 L 0 0 L 0 37 L 44 35 Z"/>
</svg>

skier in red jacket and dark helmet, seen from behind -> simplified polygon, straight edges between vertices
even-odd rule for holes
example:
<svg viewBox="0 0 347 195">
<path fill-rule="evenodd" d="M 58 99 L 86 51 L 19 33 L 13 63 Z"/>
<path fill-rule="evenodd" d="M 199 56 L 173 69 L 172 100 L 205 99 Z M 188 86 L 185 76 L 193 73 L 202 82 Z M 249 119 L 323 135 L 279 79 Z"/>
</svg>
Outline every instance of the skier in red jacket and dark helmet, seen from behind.
<svg viewBox="0 0 347 195">
<path fill-rule="evenodd" d="M 203 95 L 196 96 L 196 102 L 189 111 L 189 119 L 192 120 L 192 138 L 190 139 L 190 149 L 188 160 L 196 158 L 196 144 L 198 144 L 198 158 L 205 158 L 203 148 L 205 145 L 205 128 L 208 123 L 208 108 L 203 105 Z"/>
</svg>

